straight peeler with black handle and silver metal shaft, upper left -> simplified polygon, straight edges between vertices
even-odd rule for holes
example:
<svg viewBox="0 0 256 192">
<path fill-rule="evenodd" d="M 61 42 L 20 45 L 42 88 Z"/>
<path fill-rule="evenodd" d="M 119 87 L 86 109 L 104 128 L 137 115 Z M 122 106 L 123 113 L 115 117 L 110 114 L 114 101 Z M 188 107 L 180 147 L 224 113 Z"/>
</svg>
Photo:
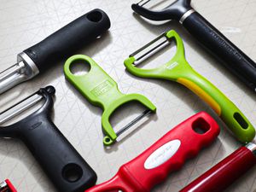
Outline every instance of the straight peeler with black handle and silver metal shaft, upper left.
<svg viewBox="0 0 256 192">
<path fill-rule="evenodd" d="M 38 44 L 23 50 L 17 63 L 0 73 L 0 94 L 16 84 L 44 73 L 55 62 L 67 59 L 74 51 L 98 38 L 110 27 L 108 15 L 101 9 L 73 20 Z"/>
</svg>

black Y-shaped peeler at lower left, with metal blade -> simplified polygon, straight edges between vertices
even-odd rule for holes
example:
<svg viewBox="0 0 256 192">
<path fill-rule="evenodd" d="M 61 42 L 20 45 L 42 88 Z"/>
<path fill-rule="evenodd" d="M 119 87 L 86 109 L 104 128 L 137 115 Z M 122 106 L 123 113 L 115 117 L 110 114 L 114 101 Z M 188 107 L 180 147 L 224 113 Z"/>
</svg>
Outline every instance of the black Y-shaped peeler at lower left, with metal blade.
<svg viewBox="0 0 256 192">
<path fill-rule="evenodd" d="M 48 86 L 0 113 L 0 137 L 20 138 L 58 191 L 83 191 L 96 183 L 96 173 L 51 121 L 54 95 L 55 88 Z M 26 118 L 2 126 L 42 102 Z"/>
</svg>

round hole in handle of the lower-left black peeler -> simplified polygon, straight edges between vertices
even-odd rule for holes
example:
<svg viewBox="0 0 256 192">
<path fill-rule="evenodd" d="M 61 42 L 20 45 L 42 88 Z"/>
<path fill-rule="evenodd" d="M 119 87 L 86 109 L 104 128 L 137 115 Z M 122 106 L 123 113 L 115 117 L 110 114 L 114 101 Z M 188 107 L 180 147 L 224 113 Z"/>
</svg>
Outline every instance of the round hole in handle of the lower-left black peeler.
<svg viewBox="0 0 256 192">
<path fill-rule="evenodd" d="M 62 177 L 64 177 L 68 182 L 77 182 L 82 176 L 83 170 L 77 164 L 70 163 L 62 169 Z"/>
</svg>

